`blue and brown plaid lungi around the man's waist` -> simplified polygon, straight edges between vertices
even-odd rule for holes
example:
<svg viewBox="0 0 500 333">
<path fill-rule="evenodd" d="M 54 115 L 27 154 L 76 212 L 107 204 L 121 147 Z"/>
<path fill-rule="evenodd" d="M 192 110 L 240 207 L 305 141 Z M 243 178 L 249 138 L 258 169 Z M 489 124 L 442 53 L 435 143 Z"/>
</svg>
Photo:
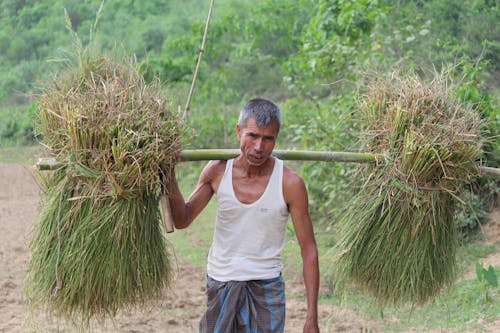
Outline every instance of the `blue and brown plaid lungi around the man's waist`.
<svg viewBox="0 0 500 333">
<path fill-rule="evenodd" d="M 285 281 L 220 282 L 207 276 L 207 311 L 200 333 L 280 333 L 285 325 Z"/>
</svg>

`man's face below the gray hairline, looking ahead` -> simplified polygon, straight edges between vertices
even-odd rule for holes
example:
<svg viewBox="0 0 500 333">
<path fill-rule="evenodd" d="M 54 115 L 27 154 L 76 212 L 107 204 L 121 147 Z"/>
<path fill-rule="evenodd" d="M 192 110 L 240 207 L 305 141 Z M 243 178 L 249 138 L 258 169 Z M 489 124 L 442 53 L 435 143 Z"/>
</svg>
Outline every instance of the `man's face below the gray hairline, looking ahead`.
<svg viewBox="0 0 500 333">
<path fill-rule="evenodd" d="M 245 127 L 237 125 L 236 131 L 240 141 L 241 153 L 252 166 L 260 166 L 267 161 L 273 152 L 278 138 L 279 124 L 271 122 L 267 127 L 259 127 L 255 119 L 248 118 Z"/>
</svg>

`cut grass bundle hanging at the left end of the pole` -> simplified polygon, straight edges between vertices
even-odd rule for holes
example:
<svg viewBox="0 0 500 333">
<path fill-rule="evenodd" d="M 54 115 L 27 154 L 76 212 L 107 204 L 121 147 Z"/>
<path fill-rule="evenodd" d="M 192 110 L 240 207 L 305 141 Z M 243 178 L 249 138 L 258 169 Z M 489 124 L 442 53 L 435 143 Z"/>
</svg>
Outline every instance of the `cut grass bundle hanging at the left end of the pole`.
<svg viewBox="0 0 500 333">
<path fill-rule="evenodd" d="M 182 121 L 160 83 L 136 68 L 81 56 L 44 87 L 36 127 L 62 167 L 42 182 L 27 283 L 34 310 L 102 320 L 168 287 L 158 200 Z"/>
</svg>

